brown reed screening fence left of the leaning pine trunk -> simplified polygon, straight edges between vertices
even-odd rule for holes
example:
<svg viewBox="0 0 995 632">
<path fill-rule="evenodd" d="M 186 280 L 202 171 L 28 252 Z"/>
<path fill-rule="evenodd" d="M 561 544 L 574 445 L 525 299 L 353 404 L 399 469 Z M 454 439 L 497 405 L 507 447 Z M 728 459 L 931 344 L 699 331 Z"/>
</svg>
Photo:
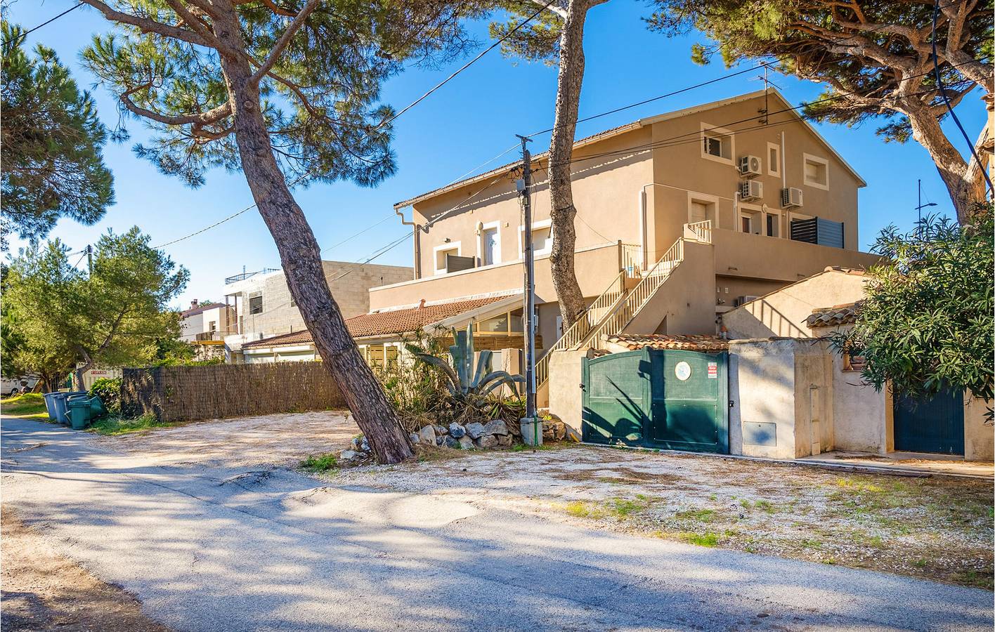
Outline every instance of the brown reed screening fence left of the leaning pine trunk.
<svg viewBox="0 0 995 632">
<path fill-rule="evenodd" d="M 344 408 L 320 362 L 124 369 L 121 413 L 160 421 Z"/>
</svg>

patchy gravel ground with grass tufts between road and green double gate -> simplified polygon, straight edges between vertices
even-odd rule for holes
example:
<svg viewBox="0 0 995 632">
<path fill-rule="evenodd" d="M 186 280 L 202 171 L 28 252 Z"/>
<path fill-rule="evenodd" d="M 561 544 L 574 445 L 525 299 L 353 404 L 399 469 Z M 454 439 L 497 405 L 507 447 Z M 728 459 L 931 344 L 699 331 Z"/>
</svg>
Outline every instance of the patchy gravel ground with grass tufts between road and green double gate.
<svg viewBox="0 0 995 632">
<path fill-rule="evenodd" d="M 327 475 L 326 475 L 327 478 Z M 645 537 L 992 588 L 992 483 L 571 446 L 332 475 Z"/>
</svg>

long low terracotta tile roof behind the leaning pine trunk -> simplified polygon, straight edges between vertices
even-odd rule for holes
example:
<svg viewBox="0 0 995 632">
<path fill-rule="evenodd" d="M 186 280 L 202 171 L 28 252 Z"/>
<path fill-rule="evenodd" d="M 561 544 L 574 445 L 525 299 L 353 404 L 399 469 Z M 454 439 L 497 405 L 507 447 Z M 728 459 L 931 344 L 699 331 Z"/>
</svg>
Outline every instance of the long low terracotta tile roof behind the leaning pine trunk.
<svg viewBox="0 0 995 632">
<path fill-rule="evenodd" d="M 487 298 L 472 298 L 462 301 L 437 303 L 409 309 L 394 309 L 390 311 L 372 312 L 353 316 L 345 321 L 345 326 L 354 338 L 366 336 L 388 336 L 390 334 L 406 334 L 420 327 L 427 327 L 440 320 L 459 316 L 478 307 L 485 307 L 507 296 L 489 296 Z M 291 334 L 281 334 L 254 340 L 242 345 L 243 349 L 260 347 L 281 347 L 287 345 L 308 345 L 314 342 L 309 331 L 301 330 Z"/>
</svg>

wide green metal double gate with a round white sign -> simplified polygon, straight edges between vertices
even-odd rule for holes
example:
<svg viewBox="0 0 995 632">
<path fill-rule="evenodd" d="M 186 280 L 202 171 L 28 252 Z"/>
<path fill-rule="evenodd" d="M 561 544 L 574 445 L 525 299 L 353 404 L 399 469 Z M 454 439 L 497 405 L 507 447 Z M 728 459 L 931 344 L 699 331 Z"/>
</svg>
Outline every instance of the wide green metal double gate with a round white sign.
<svg viewBox="0 0 995 632">
<path fill-rule="evenodd" d="M 727 358 L 643 349 L 585 359 L 584 440 L 728 452 Z"/>
</svg>

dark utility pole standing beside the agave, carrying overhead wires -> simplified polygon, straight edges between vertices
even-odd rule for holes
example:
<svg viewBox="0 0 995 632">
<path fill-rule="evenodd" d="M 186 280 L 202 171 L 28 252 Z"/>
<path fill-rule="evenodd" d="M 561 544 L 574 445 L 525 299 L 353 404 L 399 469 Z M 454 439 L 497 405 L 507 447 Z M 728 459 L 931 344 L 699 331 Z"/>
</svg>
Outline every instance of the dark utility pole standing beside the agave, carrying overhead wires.
<svg viewBox="0 0 995 632">
<path fill-rule="evenodd" d="M 516 134 L 517 135 L 517 134 Z M 525 338 L 525 416 L 520 420 L 521 438 L 526 445 L 542 443 L 542 422 L 535 416 L 535 268 L 532 252 L 532 156 L 526 143 L 521 139 L 521 179 L 515 187 L 521 196 L 521 209 L 524 216 L 524 256 L 525 300 L 523 306 Z"/>
</svg>

